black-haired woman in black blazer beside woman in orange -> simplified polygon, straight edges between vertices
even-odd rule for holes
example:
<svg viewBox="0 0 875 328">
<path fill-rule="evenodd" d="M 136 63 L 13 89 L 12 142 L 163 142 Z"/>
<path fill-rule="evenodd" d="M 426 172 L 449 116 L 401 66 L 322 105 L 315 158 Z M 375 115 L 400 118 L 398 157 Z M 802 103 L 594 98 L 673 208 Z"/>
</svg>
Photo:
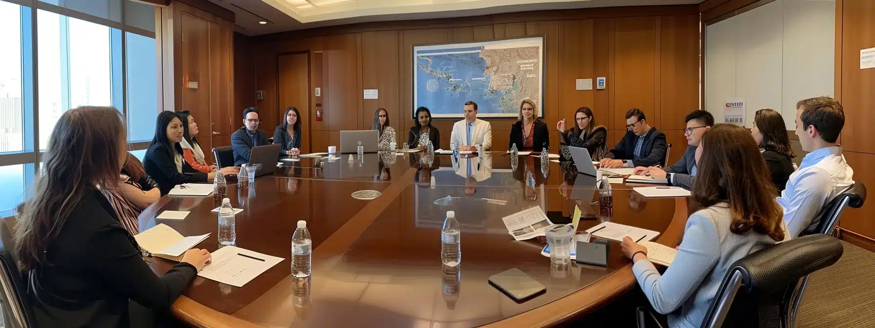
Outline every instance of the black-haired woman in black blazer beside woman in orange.
<svg viewBox="0 0 875 328">
<path fill-rule="evenodd" d="M 182 157 L 179 143 L 183 136 L 182 121 L 171 111 L 158 114 L 155 123 L 155 136 L 143 157 L 143 169 L 158 183 L 161 196 L 170 192 L 174 186 L 193 182 L 212 182 L 215 172 L 204 173 L 194 170 Z M 225 175 L 237 174 L 236 167 L 223 167 Z"/>
</svg>

